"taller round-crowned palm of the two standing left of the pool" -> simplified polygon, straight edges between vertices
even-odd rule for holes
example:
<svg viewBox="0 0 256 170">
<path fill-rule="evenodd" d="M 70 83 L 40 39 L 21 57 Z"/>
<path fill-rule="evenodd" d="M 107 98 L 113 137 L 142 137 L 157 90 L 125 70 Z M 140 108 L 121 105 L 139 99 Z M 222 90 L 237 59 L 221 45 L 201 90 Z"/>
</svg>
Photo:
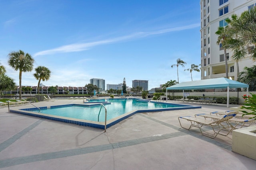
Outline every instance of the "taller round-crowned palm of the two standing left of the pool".
<svg viewBox="0 0 256 170">
<path fill-rule="evenodd" d="M 22 72 L 31 72 L 33 70 L 34 59 L 30 54 L 24 53 L 24 51 L 12 51 L 8 54 L 9 65 L 14 68 L 15 71 L 19 70 L 19 80 L 20 80 L 20 99 L 21 99 L 21 77 Z"/>
</svg>

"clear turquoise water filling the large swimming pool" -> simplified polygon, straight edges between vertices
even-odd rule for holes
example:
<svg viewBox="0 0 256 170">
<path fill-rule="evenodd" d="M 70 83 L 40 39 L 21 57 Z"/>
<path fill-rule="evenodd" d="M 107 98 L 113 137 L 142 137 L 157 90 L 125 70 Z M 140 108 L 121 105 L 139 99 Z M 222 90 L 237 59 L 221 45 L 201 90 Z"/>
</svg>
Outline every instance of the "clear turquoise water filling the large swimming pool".
<svg viewBox="0 0 256 170">
<path fill-rule="evenodd" d="M 104 100 L 105 101 L 105 100 Z M 181 107 L 176 104 L 165 104 L 159 102 L 148 102 L 132 99 L 110 99 L 109 103 L 105 103 L 104 106 L 107 109 L 107 120 L 113 119 L 124 113 L 128 113 L 133 110 L 141 109 L 157 109 L 157 108 L 170 108 L 170 107 Z M 64 117 L 72 117 L 82 120 L 98 121 L 98 114 L 100 111 L 100 105 L 94 107 L 85 106 L 68 106 L 68 107 L 55 107 L 51 109 L 41 109 L 40 113 L 58 115 Z M 105 109 L 102 107 L 99 115 L 99 121 L 105 121 Z"/>
</svg>

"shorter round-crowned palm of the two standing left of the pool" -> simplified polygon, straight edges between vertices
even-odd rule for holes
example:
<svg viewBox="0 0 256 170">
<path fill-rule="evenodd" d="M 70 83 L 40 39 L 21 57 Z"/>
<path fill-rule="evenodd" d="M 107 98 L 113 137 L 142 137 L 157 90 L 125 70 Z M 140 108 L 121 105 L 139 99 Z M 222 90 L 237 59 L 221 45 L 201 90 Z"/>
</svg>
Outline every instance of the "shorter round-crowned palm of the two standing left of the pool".
<svg viewBox="0 0 256 170">
<path fill-rule="evenodd" d="M 38 66 L 38 67 L 36 67 L 35 71 L 36 71 L 36 73 L 34 73 L 33 75 L 36 78 L 36 80 L 38 80 L 38 85 L 37 85 L 38 90 L 37 91 L 39 94 L 41 80 L 43 80 L 43 81 L 49 80 L 49 78 L 51 76 L 51 71 L 45 66 Z"/>
</svg>

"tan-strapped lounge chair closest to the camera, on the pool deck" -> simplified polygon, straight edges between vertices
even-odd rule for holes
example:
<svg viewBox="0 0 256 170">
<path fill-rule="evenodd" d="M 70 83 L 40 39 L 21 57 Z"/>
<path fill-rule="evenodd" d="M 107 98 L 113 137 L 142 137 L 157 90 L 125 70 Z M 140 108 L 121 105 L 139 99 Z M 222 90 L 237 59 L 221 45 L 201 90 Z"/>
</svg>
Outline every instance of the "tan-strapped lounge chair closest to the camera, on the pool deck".
<svg viewBox="0 0 256 170">
<path fill-rule="evenodd" d="M 234 129 L 234 126 L 232 124 L 230 124 L 228 122 L 228 120 L 231 119 L 232 117 L 234 117 L 235 115 L 236 114 L 230 112 L 230 113 L 227 113 L 226 115 L 222 116 L 221 119 L 217 119 L 217 120 L 206 120 L 206 119 L 200 119 L 198 117 L 192 117 L 192 116 L 185 116 L 185 117 L 180 116 L 180 117 L 178 117 L 178 120 L 180 122 L 180 120 L 184 119 L 191 123 L 190 127 L 186 128 L 186 127 L 182 126 L 182 124 L 180 122 L 180 126 L 182 128 L 190 130 L 191 127 L 197 127 L 200 129 L 200 132 L 202 135 L 214 139 L 218 134 L 227 136 Z M 214 131 L 214 134 L 207 133 L 206 131 L 204 131 L 202 129 L 203 126 L 211 127 L 212 130 Z M 222 131 L 222 130 L 226 131 L 226 133 L 220 133 L 220 131 Z"/>
</svg>

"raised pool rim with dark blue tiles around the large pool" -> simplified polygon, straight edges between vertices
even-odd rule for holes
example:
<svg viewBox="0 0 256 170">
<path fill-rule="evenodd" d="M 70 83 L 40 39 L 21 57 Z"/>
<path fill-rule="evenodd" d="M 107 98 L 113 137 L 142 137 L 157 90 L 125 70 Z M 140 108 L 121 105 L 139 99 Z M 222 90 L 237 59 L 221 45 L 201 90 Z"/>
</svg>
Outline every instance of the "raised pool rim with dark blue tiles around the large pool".
<svg viewBox="0 0 256 170">
<path fill-rule="evenodd" d="M 93 104 L 93 105 L 99 105 L 99 104 Z M 59 105 L 59 106 L 50 106 L 50 107 L 63 107 L 63 106 L 84 106 L 80 104 L 68 104 L 68 105 Z M 123 121 L 124 119 L 127 119 L 128 117 L 135 115 L 136 113 L 145 113 L 145 112 L 157 112 L 157 111 L 170 111 L 170 110 L 182 110 L 182 109 L 200 109 L 201 106 L 189 106 L 189 105 L 181 105 L 184 107 L 171 107 L 171 108 L 157 108 L 157 109 L 143 109 L 143 110 L 134 110 L 128 113 L 125 113 L 123 115 L 120 115 L 116 118 L 110 119 L 107 121 L 106 128 L 109 128 L 120 121 Z M 88 106 L 90 107 L 90 106 Z M 40 109 L 46 109 L 47 107 L 39 107 Z M 105 129 L 104 122 L 96 122 L 96 121 L 86 121 L 86 120 L 81 120 L 81 119 L 74 119 L 74 118 L 69 118 L 69 117 L 61 117 L 61 116 L 54 116 L 54 115 L 48 115 L 44 113 L 36 113 L 33 112 L 32 109 L 37 110 L 37 108 L 30 108 L 30 109 L 19 109 L 19 110 L 10 110 L 12 113 L 20 113 L 23 115 L 29 115 L 29 116 L 34 116 L 34 117 L 39 117 L 39 118 L 44 118 L 44 119 L 49 119 L 53 121 L 60 121 L 64 123 L 72 123 L 80 126 L 86 126 L 86 127 L 93 127 L 93 128 L 98 128 L 98 129 Z"/>
</svg>

